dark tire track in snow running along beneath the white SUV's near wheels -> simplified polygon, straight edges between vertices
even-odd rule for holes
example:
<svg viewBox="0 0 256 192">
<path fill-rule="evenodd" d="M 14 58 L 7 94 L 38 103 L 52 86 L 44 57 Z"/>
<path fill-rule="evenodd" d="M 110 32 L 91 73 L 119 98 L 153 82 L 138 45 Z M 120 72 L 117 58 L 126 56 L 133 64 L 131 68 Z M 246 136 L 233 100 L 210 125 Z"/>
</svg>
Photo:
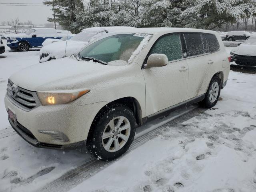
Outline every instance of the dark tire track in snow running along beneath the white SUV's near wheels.
<svg viewBox="0 0 256 192">
<path fill-rule="evenodd" d="M 142 144 L 148 142 L 149 140 L 155 138 L 157 134 L 166 128 L 166 126 L 175 126 L 178 123 L 182 123 L 186 120 L 189 120 L 190 118 L 193 118 L 194 116 L 198 116 L 199 114 L 206 111 L 204 108 L 194 108 L 192 110 L 186 111 L 183 114 L 180 114 L 179 116 L 174 116 L 174 118 L 170 118 L 170 121 L 162 124 L 161 126 L 156 127 L 155 129 L 151 130 L 150 132 L 146 132 L 142 136 L 135 136 L 135 139 L 130 146 L 130 149 L 127 153 L 131 152 L 132 150 L 138 148 Z M 125 154 L 121 156 L 120 158 L 124 158 Z M 119 159 L 119 158 L 118 158 Z M 118 160 L 117 159 L 117 160 Z M 52 192 L 52 191 L 62 191 L 67 192 L 70 189 L 74 188 L 76 185 L 82 183 L 84 180 L 90 178 L 91 176 L 94 176 L 96 173 L 100 172 L 104 168 L 110 166 L 115 161 L 112 162 L 103 162 L 100 160 L 97 160 L 96 158 L 93 158 L 89 162 L 85 162 L 82 165 L 77 166 L 76 168 L 68 171 L 66 174 L 62 175 L 60 178 L 52 181 L 50 184 L 47 184 L 43 188 L 41 188 L 39 191 L 42 192 Z"/>
</svg>

